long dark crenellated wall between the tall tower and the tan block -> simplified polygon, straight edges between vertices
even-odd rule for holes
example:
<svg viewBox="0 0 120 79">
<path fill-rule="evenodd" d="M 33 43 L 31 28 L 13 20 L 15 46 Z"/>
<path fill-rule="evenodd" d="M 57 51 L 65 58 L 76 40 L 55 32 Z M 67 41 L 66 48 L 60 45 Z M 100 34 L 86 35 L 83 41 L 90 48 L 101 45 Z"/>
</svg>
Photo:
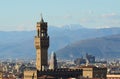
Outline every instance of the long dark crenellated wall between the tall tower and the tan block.
<svg viewBox="0 0 120 79">
<path fill-rule="evenodd" d="M 69 78 L 69 77 L 81 77 L 82 76 L 82 69 L 55 69 L 55 70 L 44 70 L 38 71 L 38 76 L 41 77 L 43 75 L 53 76 L 55 78 Z"/>
</svg>

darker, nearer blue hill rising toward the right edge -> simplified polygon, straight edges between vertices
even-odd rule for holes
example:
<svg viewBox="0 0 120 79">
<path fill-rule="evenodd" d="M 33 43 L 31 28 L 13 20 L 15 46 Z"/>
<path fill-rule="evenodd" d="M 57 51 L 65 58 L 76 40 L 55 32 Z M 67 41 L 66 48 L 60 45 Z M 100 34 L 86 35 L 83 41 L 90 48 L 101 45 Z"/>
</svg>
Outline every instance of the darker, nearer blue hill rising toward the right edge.
<svg viewBox="0 0 120 79">
<path fill-rule="evenodd" d="M 81 40 L 57 51 L 59 58 L 72 59 L 91 54 L 96 58 L 120 58 L 120 34 Z"/>
</svg>

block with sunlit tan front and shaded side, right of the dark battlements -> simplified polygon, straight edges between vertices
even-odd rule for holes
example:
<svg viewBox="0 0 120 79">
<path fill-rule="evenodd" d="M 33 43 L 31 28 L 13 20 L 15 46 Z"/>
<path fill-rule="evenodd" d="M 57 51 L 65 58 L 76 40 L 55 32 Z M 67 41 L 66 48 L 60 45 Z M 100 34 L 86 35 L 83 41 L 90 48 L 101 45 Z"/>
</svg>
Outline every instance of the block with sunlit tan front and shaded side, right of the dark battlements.
<svg viewBox="0 0 120 79">
<path fill-rule="evenodd" d="M 95 66 L 81 66 L 83 69 L 83 77 L 84 78 L 92 78 L 92 79 L 106 79 L 107 68 L 95 67 Z"/>
</svg>

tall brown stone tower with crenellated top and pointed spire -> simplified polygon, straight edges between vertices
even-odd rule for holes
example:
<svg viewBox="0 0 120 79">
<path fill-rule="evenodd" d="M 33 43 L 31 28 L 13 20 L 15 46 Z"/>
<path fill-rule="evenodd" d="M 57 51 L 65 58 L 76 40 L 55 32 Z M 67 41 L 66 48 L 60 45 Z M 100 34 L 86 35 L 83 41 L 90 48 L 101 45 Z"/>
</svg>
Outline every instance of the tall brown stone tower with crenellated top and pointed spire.
<svg viewBox="0 0 120 79">
<path fill-rule="evenodd" d="M 36 48 L 36 68 L 39 71 L 45 70 L 48 66 L 48 47 L 49 36 L 47 34 L 47 22 L 44 22 L 42 16 L 41 21 L 37 22 L 37 35 L 35 36 Z"/>
</svg>

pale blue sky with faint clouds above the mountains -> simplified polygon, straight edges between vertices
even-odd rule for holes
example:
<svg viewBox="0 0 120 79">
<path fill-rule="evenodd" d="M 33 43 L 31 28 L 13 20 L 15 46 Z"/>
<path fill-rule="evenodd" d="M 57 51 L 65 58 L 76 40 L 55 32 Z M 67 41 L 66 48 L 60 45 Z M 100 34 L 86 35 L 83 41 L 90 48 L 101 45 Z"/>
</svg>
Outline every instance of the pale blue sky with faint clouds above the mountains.
<svg viewBox="0 0 120 79">
<path fill-rule="evenodd" d="M 41 13 L 53 26 L 120 27 L 120 0 L 0 0 L 0 30 L 33 30 Z"/>
</svg>

